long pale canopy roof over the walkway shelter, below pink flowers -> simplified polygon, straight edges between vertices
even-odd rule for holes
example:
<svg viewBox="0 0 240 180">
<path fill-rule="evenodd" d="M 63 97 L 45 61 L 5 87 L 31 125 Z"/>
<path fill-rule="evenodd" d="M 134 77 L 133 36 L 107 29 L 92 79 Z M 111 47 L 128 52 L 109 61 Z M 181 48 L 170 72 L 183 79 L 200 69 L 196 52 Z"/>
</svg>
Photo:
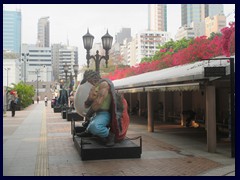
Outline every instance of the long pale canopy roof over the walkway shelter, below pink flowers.
<svg viewBox="0 0 240 180">
<path fill-rule="evenodd" d="M 200 82 L 201 80 L 211 81 L 219 78 L 204 77 L 204 67 L 226 67 L 226 75 L 230 73 L 229 60 L 217 60 L 218 58 L 226 57 L 217 57 L 215 58 L 216 60 L 198 61 L 195 63 L 174 66 L 158 71 L 147 72 L 119 80 L 114 80 L 113 83 L 115 89 L 119 90 L 120 92 L 142 92 L 156 89 L 162 91 L 197 90 L 199 83 L 196 84 L 196 82 Z"/>
</svg>

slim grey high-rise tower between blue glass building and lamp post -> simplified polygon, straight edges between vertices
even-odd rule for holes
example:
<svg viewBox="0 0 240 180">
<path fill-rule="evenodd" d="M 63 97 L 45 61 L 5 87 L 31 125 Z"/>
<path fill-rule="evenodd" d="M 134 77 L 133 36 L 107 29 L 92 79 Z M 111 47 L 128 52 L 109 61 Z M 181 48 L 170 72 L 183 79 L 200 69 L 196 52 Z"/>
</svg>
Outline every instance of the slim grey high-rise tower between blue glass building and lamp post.
<svg viewBox="0 0 240 180">
<path fill-rule="evenodd" d="M 42 17 L 38 20 L 38 47 L 50 47 L 49 17 Z"/>
</svg>

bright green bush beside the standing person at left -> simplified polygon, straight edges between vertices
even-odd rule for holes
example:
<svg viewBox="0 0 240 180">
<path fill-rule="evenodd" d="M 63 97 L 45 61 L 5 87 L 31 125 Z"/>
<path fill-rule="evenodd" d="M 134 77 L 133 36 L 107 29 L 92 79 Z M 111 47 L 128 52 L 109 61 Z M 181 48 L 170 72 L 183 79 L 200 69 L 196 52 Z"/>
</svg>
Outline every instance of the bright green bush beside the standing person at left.
<svg viewBox="0 0 240 180">
<path fill-rule="evenodd" d="M 11 90 L 17 91 L 21 106 L 23 108 L 28 107 L 32 104 L 32 100 L 35 94 L 35 88 L 32 85 L 27 85 L 22 81 L 18 84 L 12 84 Z"/>
</svg>

